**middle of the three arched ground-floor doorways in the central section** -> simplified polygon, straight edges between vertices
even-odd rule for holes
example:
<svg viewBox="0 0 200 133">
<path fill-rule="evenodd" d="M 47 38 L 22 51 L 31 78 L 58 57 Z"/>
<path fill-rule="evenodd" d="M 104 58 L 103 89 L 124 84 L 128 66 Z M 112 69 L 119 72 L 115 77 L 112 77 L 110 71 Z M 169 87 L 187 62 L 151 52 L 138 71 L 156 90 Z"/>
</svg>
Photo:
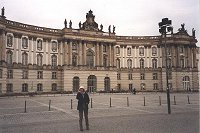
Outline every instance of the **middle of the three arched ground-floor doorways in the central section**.
<svg viewBox="0 0 200 133">
<path fill-rule="evenodd" d="M 97 78 L 95 75 L 90 75 L 87 81 L 88 92 L 96 92 L 97 89 Z"/>
</svg>

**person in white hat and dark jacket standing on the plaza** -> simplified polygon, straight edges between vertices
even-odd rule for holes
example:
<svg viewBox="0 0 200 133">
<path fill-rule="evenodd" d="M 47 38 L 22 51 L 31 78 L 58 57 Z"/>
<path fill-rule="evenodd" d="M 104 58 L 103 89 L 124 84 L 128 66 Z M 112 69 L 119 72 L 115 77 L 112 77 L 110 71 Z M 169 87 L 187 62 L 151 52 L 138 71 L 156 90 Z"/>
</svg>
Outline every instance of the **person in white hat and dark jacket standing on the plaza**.
<svg viewBox="0 0 200 133">
<path fill-rule="evenodd" d="M 90 103 L 89 95 L 85 92 L 84 87 L 81 86 L 79 92 L 76 95 L 78 100 L 77 110 L 79 110 L 79 126 L 80 131 L 83 131 L 83 112 L 85 116 L 86 130 L 89 130 L 89 121 L 88 121 L 88 104 Z"/>
</svg>

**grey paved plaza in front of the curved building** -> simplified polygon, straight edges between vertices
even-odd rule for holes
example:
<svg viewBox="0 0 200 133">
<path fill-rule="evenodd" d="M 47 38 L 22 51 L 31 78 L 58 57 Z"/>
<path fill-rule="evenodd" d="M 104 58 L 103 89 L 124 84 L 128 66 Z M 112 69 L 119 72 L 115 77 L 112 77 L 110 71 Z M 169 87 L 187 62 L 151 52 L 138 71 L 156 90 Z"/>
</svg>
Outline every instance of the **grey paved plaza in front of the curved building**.
<svg viewBox="0 0 200 133">
<path fill-rule="evenodd" d="M 199 93 L 90 94 L 88 133 L 199 133 Z M 26 107 L 25 107 L 26 103 Z M 75 95 L 0 97 L 0 133 L 79 133 Z"/>
</svg>

